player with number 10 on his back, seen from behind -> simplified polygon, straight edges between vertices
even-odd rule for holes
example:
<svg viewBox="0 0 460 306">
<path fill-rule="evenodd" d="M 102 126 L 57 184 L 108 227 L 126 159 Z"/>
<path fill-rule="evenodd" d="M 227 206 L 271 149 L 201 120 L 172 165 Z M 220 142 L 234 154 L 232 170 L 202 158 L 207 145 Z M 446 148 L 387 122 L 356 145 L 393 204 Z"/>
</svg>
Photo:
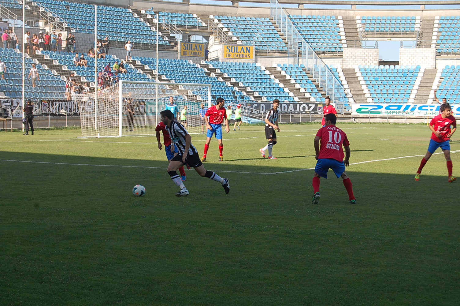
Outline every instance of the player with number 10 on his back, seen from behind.
<svg viewBox="0 0 460 306">
<path fill-rule="evenodd" d="M 345 172 L 345 166 L 348 167 L 350 159 L 350 142 L 348 141 L 344 131 L 335 126 L 337 117 L 329 113 L 324 116 L 326 126 L 318 130 L 315 137 L 315 151 L 316 151 L 316 167 L 315 175 L 313 176 L 313 201 L 312 204 L 318 204 L 320 177 L 328 178 L 328 171 L 332 169 L 337 176 L 341 177 L 344 182 L 346 191 L 348 192 L 348 199 L 351 204 L 356 203 L 355 196 L 353 195 L 353 187 L 351 180 Z M 321 148 L 320 148 L 321 140 Z M 345 160 L 342 144 L 345 148 Z"/>
</svg>

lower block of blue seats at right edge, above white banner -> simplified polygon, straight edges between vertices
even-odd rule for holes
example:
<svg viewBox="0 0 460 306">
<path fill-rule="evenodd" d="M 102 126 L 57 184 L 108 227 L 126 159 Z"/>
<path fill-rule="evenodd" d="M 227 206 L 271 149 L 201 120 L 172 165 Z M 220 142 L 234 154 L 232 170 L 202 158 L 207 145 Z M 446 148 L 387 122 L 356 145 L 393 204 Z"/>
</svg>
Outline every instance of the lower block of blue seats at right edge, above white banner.
<svg viewBox="0 0 460 306">
<path fill-rule="evenodd" d="M 460 103 L 460 66 L 445 66 L 442 73 L 441 84 L 437 89 L 437 98 L 446 98 L 449 104 Z"/>
</svg>

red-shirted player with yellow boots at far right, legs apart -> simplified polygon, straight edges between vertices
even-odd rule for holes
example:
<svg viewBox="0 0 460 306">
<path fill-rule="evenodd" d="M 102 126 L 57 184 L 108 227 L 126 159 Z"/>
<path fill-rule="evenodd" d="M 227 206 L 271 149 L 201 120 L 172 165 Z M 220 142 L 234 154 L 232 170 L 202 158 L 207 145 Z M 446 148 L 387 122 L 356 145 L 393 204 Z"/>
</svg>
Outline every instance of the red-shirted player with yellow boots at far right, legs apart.
<svg viewBox="0 0 460 306">
<path fill-rule="evenodd" d="M 447 171 L 449 173 L 449 183 L 452 183 L 456 178 L 452 176 L 452 160 L 450 159 L 450 144 L 449 139 L 455 133 L 457 129 L 456 121 L 452 115 L 452 108 L 449 103 L 441 104 L 439 108 L 441 114 L 434 117 L 430 122 L 431 139 L 428 146 L 428 151 L 426 152 L 425 157 L 422 158 L 420 162 L 419 170 L 415 173 L 415 180 L 420 179 L 420 173 L 422 173 L 423 167 L 425 167 L 426 162 L 430 159 L 431 155 L 436 151 L 437 148 L 441 148 L 444 152 L 444 157 L 447 161 Z M 454 128 L 451 130 L 450 126 Z"/>
</svg>

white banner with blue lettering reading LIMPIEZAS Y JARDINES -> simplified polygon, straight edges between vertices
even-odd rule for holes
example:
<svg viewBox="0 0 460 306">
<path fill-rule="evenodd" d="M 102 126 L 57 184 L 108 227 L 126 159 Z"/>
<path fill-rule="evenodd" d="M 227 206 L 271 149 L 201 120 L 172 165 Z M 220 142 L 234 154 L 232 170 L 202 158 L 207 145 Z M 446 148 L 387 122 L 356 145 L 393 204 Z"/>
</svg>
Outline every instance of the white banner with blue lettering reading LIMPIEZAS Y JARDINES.
<svg viewBox="0 0 460 306">
<path fill-rule="evenodd" d="M 353 115 L 436 116 L 439 104 L 351 104 Z M 451 105 L 454 114 L 460 113 L 460 105 Z"/>
</svg>

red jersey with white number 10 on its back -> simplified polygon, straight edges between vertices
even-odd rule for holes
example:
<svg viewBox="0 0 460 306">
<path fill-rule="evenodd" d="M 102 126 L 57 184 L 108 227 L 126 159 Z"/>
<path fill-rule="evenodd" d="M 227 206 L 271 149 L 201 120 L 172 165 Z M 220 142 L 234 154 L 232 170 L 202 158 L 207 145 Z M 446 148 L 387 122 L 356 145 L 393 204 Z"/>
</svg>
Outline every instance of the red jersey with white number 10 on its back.
<svg viewBox="0 0 460 306">
<path fill-rule="evenodd" d="M 320 138 L 321 145 L 319 148 L 318 158 L 333 158 L 336 161 L 344 161 L 344 150 L 342 144 L 349 146 L 350 142 L 344 131 L 334 125 L 322 127 L 316 133 Z"/>
</svg>

